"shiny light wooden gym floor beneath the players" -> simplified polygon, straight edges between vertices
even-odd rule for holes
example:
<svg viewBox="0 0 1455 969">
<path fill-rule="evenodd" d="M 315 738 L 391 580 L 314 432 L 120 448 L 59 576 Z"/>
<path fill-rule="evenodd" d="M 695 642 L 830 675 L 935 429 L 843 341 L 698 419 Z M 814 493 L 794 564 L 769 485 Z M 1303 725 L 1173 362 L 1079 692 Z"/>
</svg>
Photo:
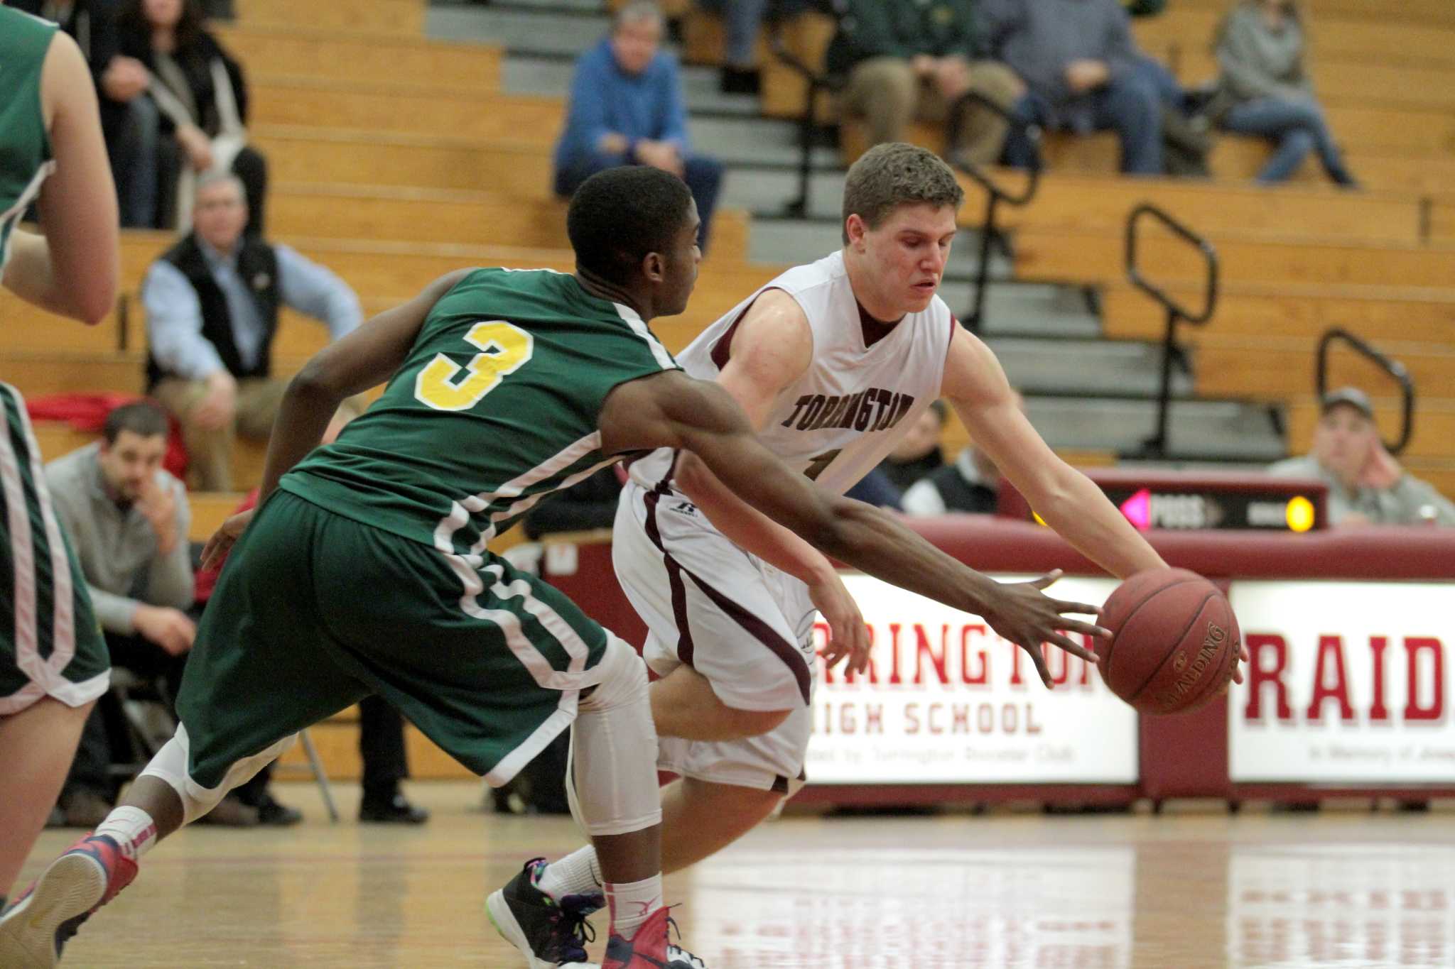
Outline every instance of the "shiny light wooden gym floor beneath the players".
<svg viewBox="0 0 1455 969">
<path fill-rule="evenodd" d="M 324 821 L 194 828 L 67 949 L 67 966 L 522 965 L 485 893 L 569 819 L 479 811 L 480 787 L 415 783 L 422 828 Z M 74 832 L 48 831 L 28 882 Z M 1455 814 L 1219 811 L 789 816 L 668 879 L 711 969 L 1212 969 L 1455 965 Z M 25 883 L 25 882 L 22 882 Z M 598 917 L 599 920 L 599 917 Z M 599 957 L 599 943 L 592 949 Z"/>
</svg>

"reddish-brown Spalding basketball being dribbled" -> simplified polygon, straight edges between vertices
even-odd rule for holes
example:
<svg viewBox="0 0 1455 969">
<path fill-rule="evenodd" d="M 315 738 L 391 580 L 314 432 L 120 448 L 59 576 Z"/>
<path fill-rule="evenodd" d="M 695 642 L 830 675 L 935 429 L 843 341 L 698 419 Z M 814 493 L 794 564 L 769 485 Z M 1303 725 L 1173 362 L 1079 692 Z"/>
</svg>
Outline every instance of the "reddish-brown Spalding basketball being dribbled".
<svg viewBox="0 0 1455 969">
<path fill-rule="evenodd" d="M 1196 572 L 1160 568 L 1122 583 L 1101 610 L 1101 678 L 1142 713 L 1183 713 L 1232 677 L 1241 633 L 1228 599 Z"/>
</svg>

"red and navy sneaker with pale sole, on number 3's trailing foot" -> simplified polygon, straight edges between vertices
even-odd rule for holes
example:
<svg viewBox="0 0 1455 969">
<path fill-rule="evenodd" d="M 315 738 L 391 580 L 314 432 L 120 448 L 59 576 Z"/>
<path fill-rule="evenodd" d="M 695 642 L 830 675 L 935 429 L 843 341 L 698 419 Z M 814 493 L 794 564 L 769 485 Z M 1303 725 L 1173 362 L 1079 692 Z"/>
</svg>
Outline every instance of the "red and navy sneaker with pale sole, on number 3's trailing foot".
<svg viewBox="0 0 1455 969">
<path fill-rule="evenodd" d="M 0 966 L 49 969 L 81 923 L 134 877 L 137 863 L 112 838 L 86 835 L 0 915 Z"/>
</svg>

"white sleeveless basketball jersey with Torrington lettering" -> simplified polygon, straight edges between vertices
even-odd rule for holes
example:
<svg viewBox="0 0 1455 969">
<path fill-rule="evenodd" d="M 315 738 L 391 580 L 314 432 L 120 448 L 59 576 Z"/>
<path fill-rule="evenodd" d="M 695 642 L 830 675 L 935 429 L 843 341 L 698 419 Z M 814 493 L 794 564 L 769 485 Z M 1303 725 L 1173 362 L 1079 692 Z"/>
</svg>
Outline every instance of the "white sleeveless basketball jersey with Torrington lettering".
<svg viewBox="0 0 1455 969">
<path fill-rule="evenodd" d="M 954 317 L 936 296 L 866 346 L 844 253 L 797 266 L 757 291 L 677 354 L 688 375 L 711 381 L 728 365 L 733 328 L 754 301 L 781 289 L 803 308 L 813 333 L 809 368 L 778 394 L 760 439 L 790 468 L 844 494 L 893 449 L 940 397 Z M 668 452 L 669 453 L 669 452 Z M 643 487 L 668 472 L 663 453 L 631 466 Z"/>
</svg>

